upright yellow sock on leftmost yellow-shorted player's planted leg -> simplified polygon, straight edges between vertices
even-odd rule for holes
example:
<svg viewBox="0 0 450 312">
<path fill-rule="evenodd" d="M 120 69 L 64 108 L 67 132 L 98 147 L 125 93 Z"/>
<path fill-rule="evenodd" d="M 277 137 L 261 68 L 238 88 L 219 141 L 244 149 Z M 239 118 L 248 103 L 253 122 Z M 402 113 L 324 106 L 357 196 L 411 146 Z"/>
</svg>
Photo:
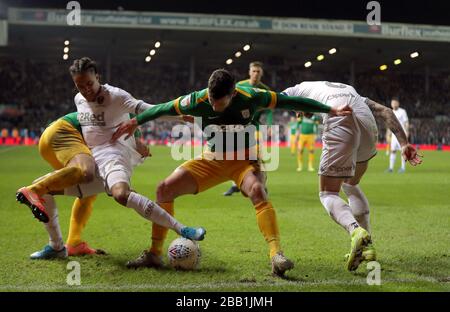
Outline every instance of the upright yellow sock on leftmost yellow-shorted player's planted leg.
<svg viewBox="0 0 450 312">
<path fill-rule="evenodd" d="M 91 216 L 96 198 L 97 195 L 93 195 L 86 198 L 77 198 L 73 202 L 67 245 L 76 246 L 82 242 L 81 232 Z"/>
</svg>

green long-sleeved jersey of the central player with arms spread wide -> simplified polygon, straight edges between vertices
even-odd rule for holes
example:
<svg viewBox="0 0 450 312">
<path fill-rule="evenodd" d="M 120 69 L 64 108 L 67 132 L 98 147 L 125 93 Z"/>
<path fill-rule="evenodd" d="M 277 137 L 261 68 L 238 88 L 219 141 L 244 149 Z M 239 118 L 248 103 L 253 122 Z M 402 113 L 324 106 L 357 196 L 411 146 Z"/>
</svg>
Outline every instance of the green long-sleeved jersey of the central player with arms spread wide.
<svg viewBox="0 0 450 312">
<path fill-rule="evenodd" d="M 137 123 L 141 125 L 147 121 L 167 115 L 201 117 L 202 130 L 205 130 L 208 126 L 213 127 L 208 128 L 208 131 L 204 131 L 204 133 L 208 141 L 208 147 L 211 151 L 215 151 L 213 138 L 217 133 L 222 133 L 224 137 L 227 133 L 230 133 L 228 136 L 236 138 L 238 133 L 245 131 L 245 127 L 252 124 L 255 115 L 260 110 L 274 108 L 323 113 L 330 111 L 329 106 L 313 99 L 287 96 L 264 89 L 236 86 L 236 95 L 233 96 L 229 106 L 223 112 L 213 110 L 208 99 L 208 89 L 203 89 L 167 103 L 155 105 L 137 115 L 136 119 Z M 225 141 L 224 139 L 223 142 L 225 143 Z M 245 148 L 254 145 L 254 135 L 245 135 Z M 223 151 L 230 151 L 230 148 L 225 146 Z M 235 151 L 238 150 L 236 144 L 232 148 Z"/>
</svg>

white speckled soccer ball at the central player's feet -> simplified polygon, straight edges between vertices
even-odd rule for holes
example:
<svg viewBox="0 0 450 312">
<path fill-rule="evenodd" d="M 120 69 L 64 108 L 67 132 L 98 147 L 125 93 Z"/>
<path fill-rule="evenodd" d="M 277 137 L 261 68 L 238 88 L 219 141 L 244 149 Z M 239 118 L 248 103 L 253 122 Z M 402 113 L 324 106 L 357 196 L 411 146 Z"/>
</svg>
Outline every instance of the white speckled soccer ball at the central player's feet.
<svg viewBox="0 0 450 312">
<path fill-rule="evenodd" d="M 177 270 L 195 270 L 200 264 L 200 247 L 197 242 L 179 237 L 167 251 L 169 265 Z"/>
</svg>

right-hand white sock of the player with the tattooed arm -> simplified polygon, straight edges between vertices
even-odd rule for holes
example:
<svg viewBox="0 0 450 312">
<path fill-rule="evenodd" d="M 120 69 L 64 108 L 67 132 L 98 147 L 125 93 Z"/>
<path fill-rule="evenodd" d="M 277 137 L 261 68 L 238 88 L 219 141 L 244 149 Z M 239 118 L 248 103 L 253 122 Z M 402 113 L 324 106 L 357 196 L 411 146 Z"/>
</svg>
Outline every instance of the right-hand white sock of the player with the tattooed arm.
<svg viewBox="0 0 450 312">
<path fill-rule="evenodd" d="M 370 233 L 369 201 L 359 185 L 342 184 L 342 190 L 348 197 L 350 209 L 358 224 Z"/>
</svg>

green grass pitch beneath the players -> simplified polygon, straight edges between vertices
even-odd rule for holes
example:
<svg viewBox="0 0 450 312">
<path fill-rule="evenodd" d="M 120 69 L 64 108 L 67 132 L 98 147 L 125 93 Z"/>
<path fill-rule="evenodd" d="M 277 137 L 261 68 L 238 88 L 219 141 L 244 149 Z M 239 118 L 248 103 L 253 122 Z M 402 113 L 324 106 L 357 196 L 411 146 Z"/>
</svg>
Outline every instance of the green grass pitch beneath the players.
<svg viewBox="0 0 450 312">
<path fill-rule="evenodd" d="M 155 198 L 159 181 L 178 164 L 167 147 L 135 170 L 134 188 Z M 449 291 L 450 153 L 424 152 L 423 165 L 405 174 L 387 174 L 380 152 L 361 183 L 371 204 L 372 230 L 381 265 L 381 286 L 366 283 L 363 264 L 345 270 L 349 237 L 326 214 L 318 199 L 315 173 L 295 171 L 296 160 L 281 149 L 279 169 L 269 172 L 270 199 L 278 214 L 282 247 L 296 267 L 287 279 L 270 276 L 267 246 L 250 201 L 223 197 L 229 184 L 176 201 L 176 217 L 207 228 L 203 257 L 195 272 L 128 270 L 125 262 L 149 246 L 151 226 L 134 211 L 100 195 L 84 239 L 107 256 L 31 261 L 47 243 L 41 223 L 15 191 L 50 171 L 36 147 L 0 148 L 0 291 Z M 316 151 L 316 167 L 319 151 Z M 397 159 L 397 161 L 399 161 Z M 73 198 L 58 197 L 64 237 Z M 175 238 L 172 232 L 166 247 Z M 68 286 L 66 266 L 81 265 L 81 286 Z"/>
</svg>

